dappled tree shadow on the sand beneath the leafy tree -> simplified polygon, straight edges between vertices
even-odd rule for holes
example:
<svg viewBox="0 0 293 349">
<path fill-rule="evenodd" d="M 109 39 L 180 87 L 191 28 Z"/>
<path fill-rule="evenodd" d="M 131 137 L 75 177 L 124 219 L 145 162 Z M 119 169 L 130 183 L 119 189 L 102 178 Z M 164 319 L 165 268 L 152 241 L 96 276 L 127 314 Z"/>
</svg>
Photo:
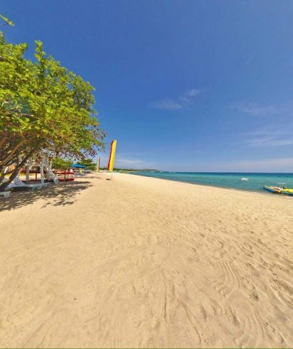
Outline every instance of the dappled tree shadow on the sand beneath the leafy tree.
<svg viewBox="0 0 293 349">
<path fill-rule="evenodd" d="M 30 205 L 38 199 L 46 200 L 42 208 L 47 205 L 72 205 L 76 201 L 76 195 L 91 186 L 89 181 L 64 182 L 58 185 L 50 183 L 46 188 L 11 193 L 9 198 L 0 199 L 0 212 Z"/>
</svg>

